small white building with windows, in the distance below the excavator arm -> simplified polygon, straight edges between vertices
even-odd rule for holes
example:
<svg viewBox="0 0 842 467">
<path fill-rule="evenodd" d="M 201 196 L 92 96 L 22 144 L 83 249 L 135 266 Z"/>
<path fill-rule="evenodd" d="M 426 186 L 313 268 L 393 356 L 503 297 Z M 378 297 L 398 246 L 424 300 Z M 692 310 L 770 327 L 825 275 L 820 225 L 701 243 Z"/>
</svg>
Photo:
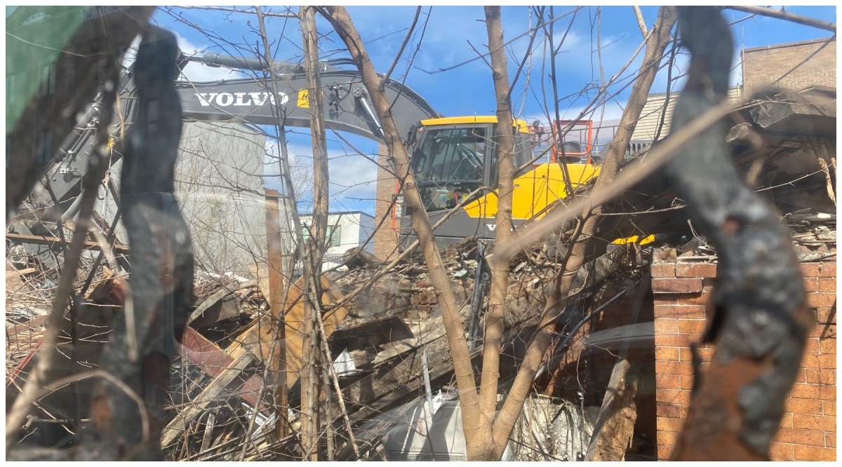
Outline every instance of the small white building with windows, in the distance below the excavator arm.
<svg viewBox="0 0 842 467">
<path fill-rule="evenodd" d="M 301 228 L 305 240 L 310 236 L 312 215 L 301 216 Z M 324 254 L 323 268 L 333 268 L 342 264 L 342 255 L 349 248 L 363 247 L 366 252 L 374 252 L 374 216 L 361 211 L 335 212 L 328 214 L 327 250 Z"/>
</svg>

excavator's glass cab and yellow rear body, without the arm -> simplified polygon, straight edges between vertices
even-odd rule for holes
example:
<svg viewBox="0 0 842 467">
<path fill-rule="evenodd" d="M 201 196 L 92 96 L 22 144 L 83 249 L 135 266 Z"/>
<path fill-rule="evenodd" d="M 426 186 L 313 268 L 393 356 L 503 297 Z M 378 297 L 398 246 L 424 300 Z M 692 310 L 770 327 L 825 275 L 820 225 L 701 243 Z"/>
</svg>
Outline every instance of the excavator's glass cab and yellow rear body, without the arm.
<svg viewBox="0 0 842 467">
<path fill-rule="evenodd" d="M 514 166 L 524 168 L 515 173 L 512 221 L 520 225 L 541 218 L 557 199 L 590 183 L 600 170 L 590 163 L 589 142 L 586 147 L 553 148 L 549 162 L 530 164 L 534 138 L 525 121 L 515 120 L 514 125 Z M 467 236 L 495 237 L 499 153 L 496 130 L 496 116 L 421 120 L 410 164 L 430 224 L 439 224 L 435 227 L 439 247 Z M 562 157 L 568 162 L 570 187 L 562 174 Z M 462 209 L 454 210 L 457 206 Z M 404 246 L 414 240 L 409 213 L 402 206 L 399 193 L 392 225 Z"/>
</svg>

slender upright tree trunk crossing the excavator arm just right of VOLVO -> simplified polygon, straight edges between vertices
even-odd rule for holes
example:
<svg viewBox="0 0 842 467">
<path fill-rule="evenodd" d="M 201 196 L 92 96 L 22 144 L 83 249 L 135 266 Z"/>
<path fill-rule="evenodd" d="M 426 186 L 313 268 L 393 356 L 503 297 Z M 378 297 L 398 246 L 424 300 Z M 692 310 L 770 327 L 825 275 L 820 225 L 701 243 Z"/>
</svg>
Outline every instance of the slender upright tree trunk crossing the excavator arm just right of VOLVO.
<svg viewBox="0 0 842 467">
<path fill-rule="evenodd" d="M 313 216 L 312 216 L 312 241 L 307 246 L 309 254 L 306 260 L 311 262 L 311 271 L 306 280 L 307 300 L 305 300 L 305 322 L 302 323 L 301 331 L 309 336 L 309 342 L 305 343 L 305 352 L 302 355 L 309 355 L 306 359 L 306 367 L 301 374 L 301 431 L 302 447 L 305 460 L 318 460 L 317 456 L 317 411 L 316 402 L 319 379 L 316 375 L 316 360 L 319 359 L 318 334 L 314 332 L 314 322 L 317 319 L 316 313 L 321 313 L 321 280 L 322 274 L 322 248 L 326 244 L 325 238 L 328 230 L 328 149 L 327 135 L 324 126 L 324 111 L 322 110 L 322 85 L 318 75 L 318 41 L 316 31 L 316 10 L 313 7 L 301 7 L 299 13 L 301 18 L 301 36 L 304 48 L 304 72 L 307 79 L 307 99 L 310 108 L 310 128 L 312 135 L 313 149 Z M 330 364 L 329 356 L 322 363 Z M 330 397 L 330 391 L 324 391 L 325 398 Z M 328 425 L 330 421 L 328 419 Z M 330 437 L 328 436 L 328 439 Z"/>
</svg>

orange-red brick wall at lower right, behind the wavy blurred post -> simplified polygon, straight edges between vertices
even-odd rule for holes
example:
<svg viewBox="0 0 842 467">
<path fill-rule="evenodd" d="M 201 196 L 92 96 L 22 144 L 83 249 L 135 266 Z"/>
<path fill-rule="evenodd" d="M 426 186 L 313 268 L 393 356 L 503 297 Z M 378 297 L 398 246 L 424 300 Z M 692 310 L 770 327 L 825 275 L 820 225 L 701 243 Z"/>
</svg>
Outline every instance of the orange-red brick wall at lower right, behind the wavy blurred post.
<svg viewBox="0 0 842 467">
<path fill-rule="evenodd" d="M 802 263 L 807 305 L 817 324 L 786 399 L 772 460 L 836 459 L 836 263 Z M 652 266 L 658 459 L 669 459 L 692 387 L 690 342 L 701 340 L 715 264 Z M 712 346 L 700 349 L 710 362 Z M 703 364 L 704 365 L 704 364 Z"/>
</svg>

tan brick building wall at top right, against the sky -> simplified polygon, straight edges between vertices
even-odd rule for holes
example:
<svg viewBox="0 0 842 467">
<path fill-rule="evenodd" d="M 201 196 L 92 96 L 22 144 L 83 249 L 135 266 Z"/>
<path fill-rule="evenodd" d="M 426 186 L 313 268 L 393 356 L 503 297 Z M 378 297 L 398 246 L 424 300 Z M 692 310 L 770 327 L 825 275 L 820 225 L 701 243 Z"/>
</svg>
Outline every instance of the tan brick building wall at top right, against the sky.
<svg viewBox="0 0 842 467">
<path fill-rule="evenodd" d="M 811 85 L 836 88 L 836 40 L 822 48 L 825 42 L 816 39 L 744 49 L 745 93 L 751 93 L 784 74 L 786 76 L 777 83 L 781 88 L 800 90 Z M 804 60 L 807 61 L 798 66 Z M 790 72 L 795 66 L 798 68 Z"/>
</svg>

